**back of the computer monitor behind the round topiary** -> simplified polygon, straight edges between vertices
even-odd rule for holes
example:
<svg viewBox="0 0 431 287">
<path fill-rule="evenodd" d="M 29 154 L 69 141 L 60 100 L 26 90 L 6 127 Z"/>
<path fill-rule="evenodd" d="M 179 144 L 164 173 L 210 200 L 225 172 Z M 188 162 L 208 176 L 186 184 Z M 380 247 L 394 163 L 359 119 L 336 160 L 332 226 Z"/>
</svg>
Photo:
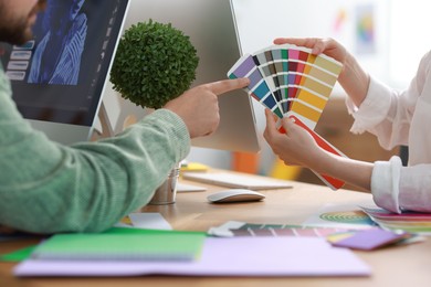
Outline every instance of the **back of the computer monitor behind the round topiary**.
<svg viewBox="0 0 431 287">
<path fill-rule="evenodd" d="M 171 23 L 190 36 L 198 51 L 199 66 L 192 86 L 225 79 L 228 71 L 241 56 L 229 0 L 132 0 L 125 29 L 149 19 Z M 220 96 L 220 126 L 214 134 L 192 140 L 193 147 L 256 152 L 260 139 L 251 98 L 244 91 Z M 122 111 L 145 115 L 134 104 Z M 115 128 L 116 129 L 116 128 Z"/>
</svg>

